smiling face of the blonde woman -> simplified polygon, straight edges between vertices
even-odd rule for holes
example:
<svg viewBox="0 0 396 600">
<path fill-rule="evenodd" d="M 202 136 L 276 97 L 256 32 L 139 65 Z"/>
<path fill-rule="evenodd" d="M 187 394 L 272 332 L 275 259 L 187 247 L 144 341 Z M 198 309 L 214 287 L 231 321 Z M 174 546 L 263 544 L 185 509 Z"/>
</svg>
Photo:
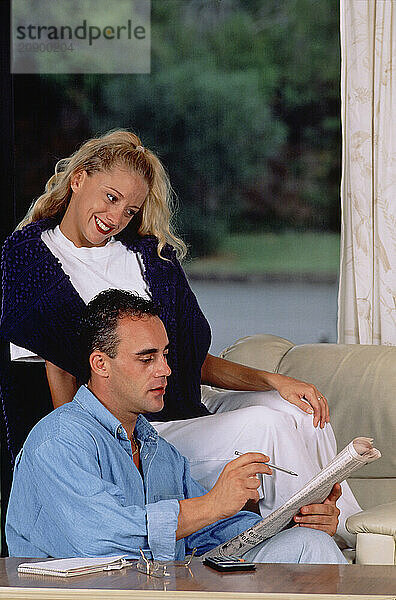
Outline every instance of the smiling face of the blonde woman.
<svg viewBox="0 0 396 600">
<path fill-rule="evenodd" d="M 121 166 L 92 175 L 79 171 L 71 179 L 71 188 L 60 229 L 80 248 L 104 246 L 128 225 L 149 191 L 141 175 Z"/>
</svg>

